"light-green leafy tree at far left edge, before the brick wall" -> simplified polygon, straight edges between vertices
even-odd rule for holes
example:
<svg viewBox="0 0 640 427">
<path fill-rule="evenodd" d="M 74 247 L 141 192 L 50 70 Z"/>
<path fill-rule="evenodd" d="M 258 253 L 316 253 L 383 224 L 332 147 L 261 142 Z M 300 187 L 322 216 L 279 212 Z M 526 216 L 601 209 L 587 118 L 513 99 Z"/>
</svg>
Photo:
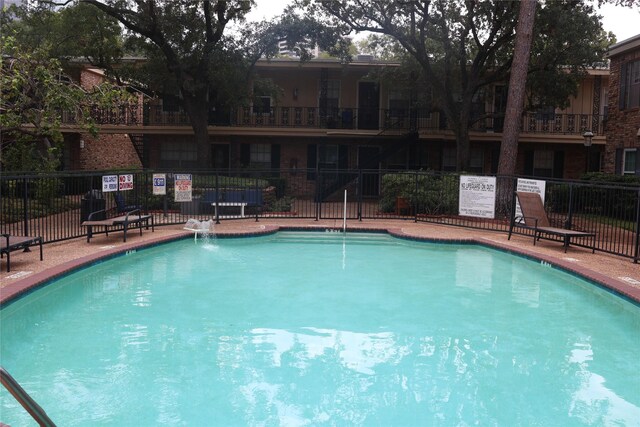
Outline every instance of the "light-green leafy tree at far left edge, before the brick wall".
<svg viewBox="0 0 640 427">
<path fill-rule="evenodd" d="M 0 37 L 0 161 L 4 169 L 53 171 L 59 165 L 62 115 L 92 134 L 92 107 L 112 108 L 130 101 L 109 83 L 91 91 L 73 83 L 46 49 L 31 51 L 12 36 Z"/>
</svg>

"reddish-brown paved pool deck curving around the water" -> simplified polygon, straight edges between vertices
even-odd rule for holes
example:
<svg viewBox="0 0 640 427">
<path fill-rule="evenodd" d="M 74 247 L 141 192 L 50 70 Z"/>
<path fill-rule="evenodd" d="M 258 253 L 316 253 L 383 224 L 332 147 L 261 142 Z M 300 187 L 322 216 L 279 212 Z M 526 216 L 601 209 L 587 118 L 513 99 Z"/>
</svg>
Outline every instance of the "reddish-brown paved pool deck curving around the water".
<svg viewBox="0 0 640 427">
<path fill-rule="evenodd" d="M 340 220 L 291 220 L 254 219 L 223 221 L 215 226 L 219 236 L 247 236 L 277 231 L 281 227 L 325 230 L 342 229 Z M 382 230 L 390 234 L 432 241 L 478 243 L 500 250 L 518 253 L 541 262 L 584 276 L 603 287 L 640 304 L 640 264 L 631 259 L 570 246 L 565 254 L 562 243 L 541 240 L 534 246 L 532 237 L 514 235 L 507 240 L 507 233 L 472 230 L 468 228 L 415 223 L 411 220 L 363 220 L 348 221 L 349 230 Z M 0 265 L 0 304 L 34 289 L 49 280 L 64 275 L 75 268 L 109 258 L 119 253 L 143 248 L 175 239 L 192 237 L 193 233 L 182 225 L 156 227 L 155 232 L 145 230 L 127 233 L 127 242 L 121 232 L 98 234 L 90 243 L 80 237 L 44 246 L 44 261 L 38 251 L 14 252 L 11 256 L 11 272 L 6 272 L 6 260 Z"/>
</svg>

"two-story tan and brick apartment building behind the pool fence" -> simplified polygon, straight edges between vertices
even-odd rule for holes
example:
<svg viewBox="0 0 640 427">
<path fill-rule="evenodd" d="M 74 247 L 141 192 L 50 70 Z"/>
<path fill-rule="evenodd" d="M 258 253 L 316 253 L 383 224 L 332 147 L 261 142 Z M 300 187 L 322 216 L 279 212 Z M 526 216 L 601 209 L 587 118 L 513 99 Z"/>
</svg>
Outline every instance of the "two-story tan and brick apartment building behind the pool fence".
<svg viewBox="0 0 640 427">
<path fill-rule="evenodd" d="M 368 56 L 349 64 L 260 61 L 257 74 L 279 87 L 280 94 L 254 94 L 250 105 L 210 114 L 211 168 L 455 170 L 455 137 L 444 115 L 437 108 L 414 108 L 415 93 L 374 77 L 398 66 Z M 81 73 L 87 84 L 99 78 L 99 70 Z M 609 70 L 591 69 L 566 109 L 527 111 L 517 173 L 578 178 L 585 171 L 603 170 L 608 91 Z M 490 113 L 504 111 L 506 95 L 505 85 L 495 85 L 474 106 L 484 118 L 471 129 L 469 172 L 497 170 L 503 122 Z M 97 140 L 68 127 L 66 167 L 195 168 L 193 131 L 175 100 L 141 98 L 141 104 L 101 114 Z M 585 132 L 594 135 L 589 147 Z M 307 178 L 313 180 L 314 174 Z"/>
</svg>

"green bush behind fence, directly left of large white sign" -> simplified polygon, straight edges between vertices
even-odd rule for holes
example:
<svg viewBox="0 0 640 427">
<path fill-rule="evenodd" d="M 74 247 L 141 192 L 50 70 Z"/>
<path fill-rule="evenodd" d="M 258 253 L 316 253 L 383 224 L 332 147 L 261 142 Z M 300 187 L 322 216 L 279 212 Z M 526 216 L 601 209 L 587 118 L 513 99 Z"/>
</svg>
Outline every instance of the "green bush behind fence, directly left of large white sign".
<svg viewBox="0 0 640 427">
<path fill-rule="evenodd" d="M 458 175 L 434 175 L 408 172 L 382 177 L 380 210 L 394 212 L 398 198 L 419 214 L 456 215 L 458 212 Z"/>
</svg>

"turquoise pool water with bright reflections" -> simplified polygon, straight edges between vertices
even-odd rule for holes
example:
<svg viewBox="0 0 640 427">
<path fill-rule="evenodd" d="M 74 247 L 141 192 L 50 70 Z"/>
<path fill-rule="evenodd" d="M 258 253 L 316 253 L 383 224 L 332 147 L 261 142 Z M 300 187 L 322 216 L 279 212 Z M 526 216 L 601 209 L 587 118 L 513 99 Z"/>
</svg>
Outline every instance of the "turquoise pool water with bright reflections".
<svg viewBox="0 0 640 427">
<path fill-rule="evenodd" d="M 59 426 L 640 423 L 640 308 L 477 246 L 182 240 L 0 316 L 2 365 Z"/>
</svg>

